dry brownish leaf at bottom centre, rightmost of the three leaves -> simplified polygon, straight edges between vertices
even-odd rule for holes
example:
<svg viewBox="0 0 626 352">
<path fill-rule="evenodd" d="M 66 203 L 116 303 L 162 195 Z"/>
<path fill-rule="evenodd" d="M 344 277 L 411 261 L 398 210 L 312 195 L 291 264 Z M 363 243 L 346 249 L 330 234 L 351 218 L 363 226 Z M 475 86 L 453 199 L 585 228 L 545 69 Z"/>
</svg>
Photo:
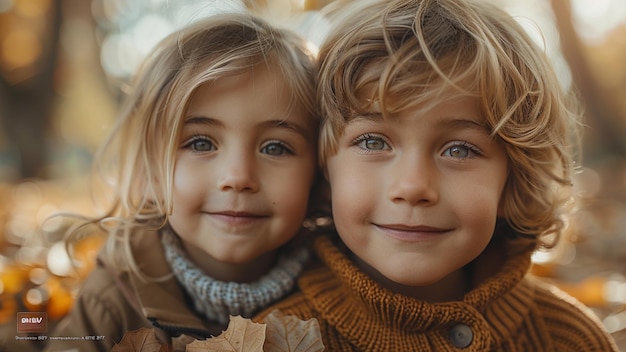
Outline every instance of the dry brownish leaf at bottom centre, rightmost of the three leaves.
<svg viewBox="0 0 626 352">
<path fill-rule="evenodd" d="M 317 352 L 324 350 L 317 319 L 300 320 L 278 310 L 265 318 L 265 352 Z"/>
</svg>

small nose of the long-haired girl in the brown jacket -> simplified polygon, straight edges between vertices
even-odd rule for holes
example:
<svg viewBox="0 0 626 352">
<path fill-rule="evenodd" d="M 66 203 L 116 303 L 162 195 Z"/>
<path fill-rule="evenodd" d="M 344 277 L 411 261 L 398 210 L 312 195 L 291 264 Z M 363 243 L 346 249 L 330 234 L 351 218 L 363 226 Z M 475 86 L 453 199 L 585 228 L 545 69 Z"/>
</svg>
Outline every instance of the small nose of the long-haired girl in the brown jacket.
<svg viewBox="0 0 626 352">
<path fill-rule="evenodd" d="M 254 158 L 233 155 L 224 159 L 218 170 L 213 171 L 219 175 L 219 190 L 251 193 L 259 190 Z"/>
</svg>

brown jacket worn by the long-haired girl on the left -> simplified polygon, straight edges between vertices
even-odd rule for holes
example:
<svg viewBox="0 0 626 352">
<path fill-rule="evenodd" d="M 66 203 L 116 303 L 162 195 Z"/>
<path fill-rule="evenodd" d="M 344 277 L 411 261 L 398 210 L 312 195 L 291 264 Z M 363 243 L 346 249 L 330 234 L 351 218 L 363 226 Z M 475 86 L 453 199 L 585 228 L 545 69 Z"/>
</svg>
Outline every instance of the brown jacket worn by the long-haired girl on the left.
<svg viewBox="0 0 626 352">
<path fill-rule="evenodd" d="M 133 234 L 131 248 L 137 264 L 150 277 L 171 272 L 157 232 Z M 48 332 L 45 351 L 109 351 L 126 331 L 139 328 L 156 328 L 161 341 L 184 346 L 189 337 L 217 336 L 225 328 L 206 325 L 188 308 L 192 305 L 176 277 L 144 282 L 131 271 L 119 271 L 117 267 L 99 256 L 69 315 Z"/>
</svg>

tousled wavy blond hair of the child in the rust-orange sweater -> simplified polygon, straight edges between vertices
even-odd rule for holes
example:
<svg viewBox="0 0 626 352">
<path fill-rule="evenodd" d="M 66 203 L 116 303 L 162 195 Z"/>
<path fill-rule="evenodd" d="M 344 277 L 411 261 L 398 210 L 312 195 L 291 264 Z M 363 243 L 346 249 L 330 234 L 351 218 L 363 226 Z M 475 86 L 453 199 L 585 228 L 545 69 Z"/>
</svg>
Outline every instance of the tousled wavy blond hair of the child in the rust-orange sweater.
<svg viewBox="0 0 626 352">
<path fill-rule="evenodd" d="M 514 18 L 474 1 L 358 6 L 331 14 L 338 26 L 320 48 L 322 167 L 346 123 L 373 107 L 385 116 L 432 108 L 454 91 L 470 94 L 508 156 L 502 216 L 520 236 L 558 238 L 571 199 L 578 106 Z"/>
</svg>

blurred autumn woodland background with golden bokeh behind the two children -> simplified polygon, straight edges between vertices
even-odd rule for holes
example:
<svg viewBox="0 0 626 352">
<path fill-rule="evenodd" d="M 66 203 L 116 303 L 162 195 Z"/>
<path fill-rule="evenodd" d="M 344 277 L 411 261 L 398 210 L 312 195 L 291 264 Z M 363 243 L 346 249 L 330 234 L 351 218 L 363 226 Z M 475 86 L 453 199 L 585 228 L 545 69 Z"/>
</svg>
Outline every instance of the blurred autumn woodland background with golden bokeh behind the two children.
<svg viewBox="0 0 626 352">
<path fill-rule="evenodd" d="M 626 351 L 626 2 L 491 0 L 519 19 L 586 109 L 579 213 L 534 273 L 593 309 Z M 0 0 L 0 336 L 19 311 L 71 307 L 101 237 L 72 265 L 59 211 L 94 211 L 88 173 L 124 84 L 163 36 L 249 8 L 319 44 L 332 0 Z M 1 338 L 0 338 L 1 339 Z M 1 344 L 0 344 L 1 345 Z"/>
</svg>

